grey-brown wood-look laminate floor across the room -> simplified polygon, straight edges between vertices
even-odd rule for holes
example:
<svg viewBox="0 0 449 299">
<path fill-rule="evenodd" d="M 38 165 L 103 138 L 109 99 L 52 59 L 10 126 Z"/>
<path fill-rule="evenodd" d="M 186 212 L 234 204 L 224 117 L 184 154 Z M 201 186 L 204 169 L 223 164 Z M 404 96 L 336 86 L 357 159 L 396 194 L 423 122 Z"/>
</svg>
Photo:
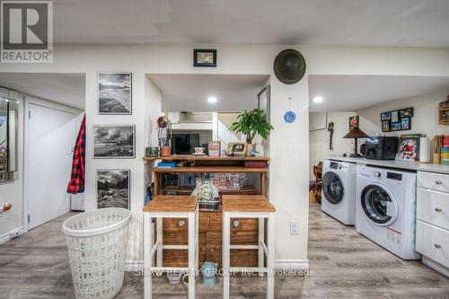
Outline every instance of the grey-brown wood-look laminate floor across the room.
<svg viewBox="0 0 449 299">
<path fill-rule="evenodd" d="M 0 298 L 75 298 L 64 215 L 0 245 Z M 299 236 L 300 237 L 300 236 Z M 276 298 L 449 298 L 449 279 L 421 265 L 383 250 L 310 206 L 309 260 L 314 275 L 276 277 Z M 155 277 L 154 298 L 186 298 L 182 286 L 169 286 Z M 221 279 L 215 287 L 198 284 L 198 298 L 222 297 Z M 265 279 L 233 277 L 233 298 L 265 298 Z M 117 298 L 143 298 L 143 278 L 126 273 Z"/>
</svg>

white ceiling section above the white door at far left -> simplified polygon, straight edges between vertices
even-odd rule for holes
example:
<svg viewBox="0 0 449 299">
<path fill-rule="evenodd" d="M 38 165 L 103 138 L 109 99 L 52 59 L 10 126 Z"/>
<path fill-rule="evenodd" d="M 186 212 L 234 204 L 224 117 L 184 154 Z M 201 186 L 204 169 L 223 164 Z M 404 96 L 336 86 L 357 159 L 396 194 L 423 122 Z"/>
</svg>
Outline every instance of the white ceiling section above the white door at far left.
<svg viewBox="0 0 449 299">
<path fill-rule="evenodd" d="M 0 73 L 0 86 L 84 110 L 84 74 Z"/>
</svg>

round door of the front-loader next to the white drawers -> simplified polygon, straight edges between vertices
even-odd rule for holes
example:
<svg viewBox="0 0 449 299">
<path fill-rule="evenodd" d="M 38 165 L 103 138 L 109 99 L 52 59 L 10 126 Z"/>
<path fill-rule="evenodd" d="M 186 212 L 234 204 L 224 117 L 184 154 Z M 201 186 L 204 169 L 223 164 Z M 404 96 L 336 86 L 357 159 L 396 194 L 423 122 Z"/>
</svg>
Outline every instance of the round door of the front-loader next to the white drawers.
<svg viewBox="0 0 449 299">
<path fill-rule="evenodd" d="M 392 194 L 381 185 L 368 185 L 362 191 L 365 215 L 381 226 L 392 224 L 398 216 L 398 204 Z"/>
</svg>

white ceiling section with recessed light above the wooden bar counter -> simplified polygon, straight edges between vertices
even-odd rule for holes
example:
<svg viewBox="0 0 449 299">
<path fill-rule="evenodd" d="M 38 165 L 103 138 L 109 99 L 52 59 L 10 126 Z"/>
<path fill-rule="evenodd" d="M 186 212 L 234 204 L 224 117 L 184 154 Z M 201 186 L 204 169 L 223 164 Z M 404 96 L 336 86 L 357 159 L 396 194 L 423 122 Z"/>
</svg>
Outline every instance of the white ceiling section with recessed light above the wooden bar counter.
<svg viewBox="0 0 449 299">
<path fill-rule="evenodd" d="M 163 111 L 240 112 L 257 107 L 269 75 L 147 75 L 162 92 Z M 209 103 L 207 98 L 217 101 Z"/>
</svg>

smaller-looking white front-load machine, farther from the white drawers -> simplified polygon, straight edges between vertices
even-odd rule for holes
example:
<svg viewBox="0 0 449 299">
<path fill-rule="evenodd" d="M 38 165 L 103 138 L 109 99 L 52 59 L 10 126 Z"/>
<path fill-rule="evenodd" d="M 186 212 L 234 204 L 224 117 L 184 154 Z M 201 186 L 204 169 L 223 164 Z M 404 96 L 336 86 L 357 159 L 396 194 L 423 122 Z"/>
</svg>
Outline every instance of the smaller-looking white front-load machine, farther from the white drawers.
<svg viewBox="0 0 449 299">
<path fill-rule="evenodd" d="M 357 165 L 324 161 L 321 210 L 347 225 L 355 224 Z"/>
</svg>

